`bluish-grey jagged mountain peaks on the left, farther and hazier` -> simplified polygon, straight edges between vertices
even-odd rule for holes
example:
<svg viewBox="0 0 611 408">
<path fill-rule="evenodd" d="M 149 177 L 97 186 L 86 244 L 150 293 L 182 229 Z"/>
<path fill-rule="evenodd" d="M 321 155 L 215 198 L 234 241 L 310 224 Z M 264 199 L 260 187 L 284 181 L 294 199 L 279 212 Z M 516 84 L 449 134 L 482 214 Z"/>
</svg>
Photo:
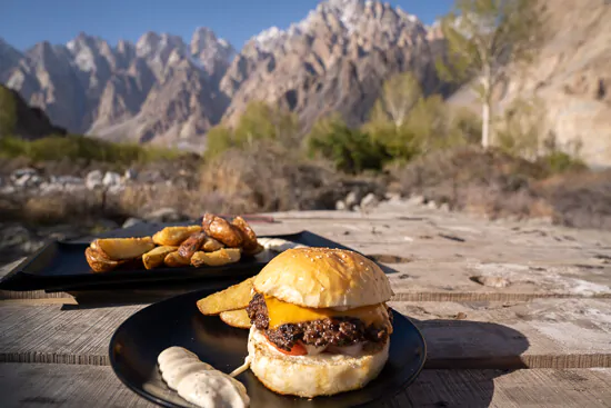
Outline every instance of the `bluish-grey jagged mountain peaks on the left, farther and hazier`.
<svg viewBox="0 0 611 408">
<path fill-rule="evenodd" d="M 72 132 L 113 140 L 189 139 L 220 119 L 227 102 L 219 102 L 217 90 L 233 54 L 206 29 L 196 31 L 190 47 L 167 33 L 147 32 L 136 44 L 119 41 L 114 48 L 80 33 L 66 46 L 42 42 L 23 56 L 0 42 L 0 79 Z M 164 109 L 181 99 L 177 89 L 197 94 L 187 98 L 180 115 Z M 142 125 L 141 118 L 151 122 Z"/>
</svg>

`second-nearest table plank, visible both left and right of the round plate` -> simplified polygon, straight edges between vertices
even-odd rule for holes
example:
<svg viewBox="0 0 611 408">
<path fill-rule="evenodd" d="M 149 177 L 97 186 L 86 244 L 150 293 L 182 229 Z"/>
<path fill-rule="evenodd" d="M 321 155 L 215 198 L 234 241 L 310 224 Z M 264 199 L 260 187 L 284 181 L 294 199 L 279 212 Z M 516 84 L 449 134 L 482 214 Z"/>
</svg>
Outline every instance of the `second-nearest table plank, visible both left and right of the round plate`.
<svg viewBox="0 0 611 408">
<path fill-rule="evenodd" d="M 391 302 L 422 330 L 430 368 L 611 367 L 611 300 Z M 0 361 L 107 365 L 116 328 L 143 306 L 0 306 Z"/>
</svg>

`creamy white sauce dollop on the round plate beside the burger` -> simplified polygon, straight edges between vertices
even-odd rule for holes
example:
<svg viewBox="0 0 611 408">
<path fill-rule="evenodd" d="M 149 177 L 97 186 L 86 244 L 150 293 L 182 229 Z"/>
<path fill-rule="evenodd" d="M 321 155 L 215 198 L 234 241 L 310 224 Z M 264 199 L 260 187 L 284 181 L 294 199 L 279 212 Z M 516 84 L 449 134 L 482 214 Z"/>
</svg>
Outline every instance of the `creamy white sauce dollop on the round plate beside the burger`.
<svg viewBox="0 0 611 408">
<path fill-rule="evenodd" d="M 157 361 L 168 387 L 191 404 L 206 408 L 246 408 L 250 404 L 242 382 L 201 361 L 198 356 L 182 347 L 167 348 L 161 351 Z M 244 366 L 247 364 L 248 360 Z"/>
</svg>

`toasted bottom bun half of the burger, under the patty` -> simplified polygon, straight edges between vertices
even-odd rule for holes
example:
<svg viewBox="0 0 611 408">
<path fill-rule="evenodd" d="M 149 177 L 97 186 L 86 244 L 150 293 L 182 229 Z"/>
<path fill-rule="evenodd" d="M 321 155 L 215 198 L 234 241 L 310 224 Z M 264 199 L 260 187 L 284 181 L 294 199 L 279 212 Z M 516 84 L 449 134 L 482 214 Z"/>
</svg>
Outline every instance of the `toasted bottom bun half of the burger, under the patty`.
<svg viewBox="0 0 611 408">
<path fill-rule="evenodd" d="M 252 327 L 248 338 L 250 369 L 270 390 L 313 398 L 351 391 L 378 377 L 388 360 L 389 341 L 377 354 L 360 357 L 322 354 L 287 356 Z"/>
</svg>

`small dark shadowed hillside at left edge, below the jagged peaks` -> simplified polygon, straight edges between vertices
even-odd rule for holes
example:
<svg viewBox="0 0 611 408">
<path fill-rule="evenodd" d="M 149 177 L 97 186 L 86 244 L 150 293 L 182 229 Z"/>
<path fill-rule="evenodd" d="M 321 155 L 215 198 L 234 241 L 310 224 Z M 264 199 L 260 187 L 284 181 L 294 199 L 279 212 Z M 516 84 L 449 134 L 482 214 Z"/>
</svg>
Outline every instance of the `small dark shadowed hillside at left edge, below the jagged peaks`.
<svg viewBox="0 0 611 408">
<path fill-rule="evenodd" d="M 0 137 L 34 140 L 50 135 L 66 135 L 66 129 L 53 126 L 40 108 L 29 107 L 17 91 L 0 84 Z"/>
</svg>

